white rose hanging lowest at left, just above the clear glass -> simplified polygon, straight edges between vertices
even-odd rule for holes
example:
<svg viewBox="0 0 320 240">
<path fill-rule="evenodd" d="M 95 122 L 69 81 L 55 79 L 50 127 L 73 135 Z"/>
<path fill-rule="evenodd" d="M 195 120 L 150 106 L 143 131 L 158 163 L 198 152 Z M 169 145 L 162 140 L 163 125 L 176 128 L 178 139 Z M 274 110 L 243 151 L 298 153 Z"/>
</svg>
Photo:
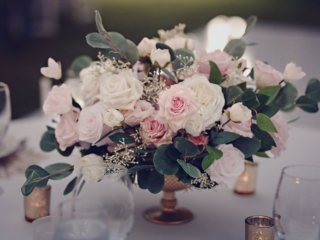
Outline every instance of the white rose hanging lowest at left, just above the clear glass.
<svg viewBox="0 0 320 240">
<path fill-rule="evenodd" d="M 101 156 L 91 153 L 78 159 L 73 168 L 77 177 L 83 174 L 85 181 L 97 182 L 101 180 L 105 174 L 105 166 L 103 163 L 104 161 Z"/>
</svg>

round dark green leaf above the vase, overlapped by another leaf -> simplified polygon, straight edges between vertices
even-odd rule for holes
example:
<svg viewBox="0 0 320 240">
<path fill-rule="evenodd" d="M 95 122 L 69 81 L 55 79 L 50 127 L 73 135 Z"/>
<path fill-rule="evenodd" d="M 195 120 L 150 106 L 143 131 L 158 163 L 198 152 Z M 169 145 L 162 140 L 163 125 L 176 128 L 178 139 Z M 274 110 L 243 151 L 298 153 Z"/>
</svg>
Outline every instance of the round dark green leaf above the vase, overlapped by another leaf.
<svg viewBox="0 0 320 240">
<path fill-rule="evenodd" d="M 155 169 L 161 174 L 172 175 L 179 169 L 176 159 L 172 159 L 168 153 L 168 145 L 160 145 L 153 154 L 153 164 Z"/>
</svg>

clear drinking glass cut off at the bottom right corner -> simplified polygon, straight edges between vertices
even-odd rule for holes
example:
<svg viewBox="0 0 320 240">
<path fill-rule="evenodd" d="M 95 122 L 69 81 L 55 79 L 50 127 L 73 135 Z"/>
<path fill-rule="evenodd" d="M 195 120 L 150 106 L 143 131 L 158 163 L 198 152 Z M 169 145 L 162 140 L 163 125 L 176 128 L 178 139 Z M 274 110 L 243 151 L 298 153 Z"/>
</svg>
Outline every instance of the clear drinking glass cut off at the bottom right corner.
<svg viewBox="0 0 320 240">
<path fill-rule="evenodd" d="M 320 239 L 320 166 L 284 167 L 273 212 L 279 239 Z"/>
</svg>

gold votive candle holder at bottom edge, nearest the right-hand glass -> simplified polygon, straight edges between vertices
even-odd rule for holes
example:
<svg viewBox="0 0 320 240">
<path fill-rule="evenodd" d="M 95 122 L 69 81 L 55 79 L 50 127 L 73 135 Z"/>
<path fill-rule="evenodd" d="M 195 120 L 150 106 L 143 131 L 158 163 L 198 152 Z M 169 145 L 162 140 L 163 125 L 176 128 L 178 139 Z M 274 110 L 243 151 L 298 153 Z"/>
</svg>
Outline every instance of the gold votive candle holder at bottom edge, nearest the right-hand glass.
<svg viewBox="0 0 320 240">
<path fill-rule="evenodd" d="M 274 221 L 269 216 L 249 216 L 245 219 L 245 240 L 273 240 Z"/>
</svg>

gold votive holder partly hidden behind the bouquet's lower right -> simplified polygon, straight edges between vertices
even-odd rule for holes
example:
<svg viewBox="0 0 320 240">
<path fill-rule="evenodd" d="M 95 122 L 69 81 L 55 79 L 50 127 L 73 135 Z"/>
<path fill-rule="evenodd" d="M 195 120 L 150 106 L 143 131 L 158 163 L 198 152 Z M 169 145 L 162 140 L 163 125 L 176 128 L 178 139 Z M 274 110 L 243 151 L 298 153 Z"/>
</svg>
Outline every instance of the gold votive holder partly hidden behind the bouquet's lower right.
<svg viewBox="0 0 320 240">
<path fill-rule="evenodd" d="M 234 184 L 234 192 L 241 195 L 250 195 L 255 192 L 257 163 L 244 161 L 244 171 L 238 176 Z"/>
</svg>

